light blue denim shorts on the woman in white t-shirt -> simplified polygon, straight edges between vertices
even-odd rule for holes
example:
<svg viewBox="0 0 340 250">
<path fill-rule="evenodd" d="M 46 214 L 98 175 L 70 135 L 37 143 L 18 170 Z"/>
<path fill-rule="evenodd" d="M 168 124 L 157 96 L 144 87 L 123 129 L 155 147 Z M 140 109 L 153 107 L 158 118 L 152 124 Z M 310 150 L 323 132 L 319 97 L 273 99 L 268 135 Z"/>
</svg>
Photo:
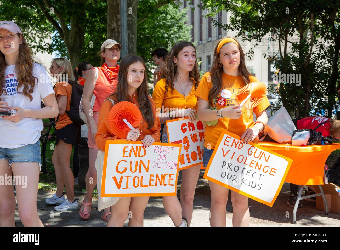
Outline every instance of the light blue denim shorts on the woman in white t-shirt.
<svg viewBox="0 0 340 250">
<path fill-rule="evenodd" d="M 19 148 L 0 148 L 0 160 L 8 159 L 8 163 L 37 162 L 41 168 L 40 140 Z"/>
</svg>

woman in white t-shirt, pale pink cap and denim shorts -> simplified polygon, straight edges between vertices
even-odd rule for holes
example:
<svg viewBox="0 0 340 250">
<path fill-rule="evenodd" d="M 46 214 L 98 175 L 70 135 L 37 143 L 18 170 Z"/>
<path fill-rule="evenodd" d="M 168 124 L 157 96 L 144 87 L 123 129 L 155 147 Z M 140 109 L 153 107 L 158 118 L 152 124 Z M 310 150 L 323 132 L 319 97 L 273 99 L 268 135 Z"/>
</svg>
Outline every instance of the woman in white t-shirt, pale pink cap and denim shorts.
<svg viewBox="0 0 340 250">
<path fill-rule="evenodd" d="M 43 227 L 37 212 L 39 138 L 44 129 L 42 118 L 57 116 L 58 105 L 46 69 L 32 59 L 19 27 L 12 21 L 0 21 L 0 93 L 13 99 L 13 103 L 0 101 L 0 112 L 16 111 L 0 116 L 0 176 L 7 180 L 13 173 L 22 224 Z M 7 181 L 0 185 L 0 226 L 14 227 L 14 212 L 13 185 Z"/>
</svg>

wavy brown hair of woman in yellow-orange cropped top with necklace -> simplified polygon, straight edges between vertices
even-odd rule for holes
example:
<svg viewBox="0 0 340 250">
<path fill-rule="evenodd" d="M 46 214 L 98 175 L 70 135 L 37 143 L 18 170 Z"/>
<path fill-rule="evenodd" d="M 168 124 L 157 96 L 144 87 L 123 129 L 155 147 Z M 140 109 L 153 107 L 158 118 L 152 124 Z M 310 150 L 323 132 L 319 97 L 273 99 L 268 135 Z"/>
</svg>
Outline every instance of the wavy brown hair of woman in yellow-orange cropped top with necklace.
<svg viewBox="0 0 340 250">
<path fill-rule="evenodd" d="M 196 48 L 195 46 L 188 42 L 188 41 L 180 41 L 176 43 L 170 50 L 170 52 L 167 54 L 167 56 L 164 59 L 164 64 L 162 68 L 162 75 L 160 76 L 160 79 L 165 78 L 166 80 L 166 86 L 165 86 L 165 93 L 168 91 L 168 87 L 170 86 L 171 91 L 174 89 L 174 84 L 173 81 L 175 79 L 175 76 L 177 74 L 177 66 L 175 65 L 173 61 L 173 57 L 175 56 L 178 58 L 178 53 L 187 46 L 191 46 L 194 48 L 195 53 L 196 53 Z M 189 72 L 189 77 L 193 78 L 195 81 L 195 88 L 197 88 L 199 82 L 200 82 L 200 72 L 198 70 L 198 63 L 197 63 L 197 56 L 195 60 L 195 64 L 192 68 L 192 70 Z"/>
</svg>

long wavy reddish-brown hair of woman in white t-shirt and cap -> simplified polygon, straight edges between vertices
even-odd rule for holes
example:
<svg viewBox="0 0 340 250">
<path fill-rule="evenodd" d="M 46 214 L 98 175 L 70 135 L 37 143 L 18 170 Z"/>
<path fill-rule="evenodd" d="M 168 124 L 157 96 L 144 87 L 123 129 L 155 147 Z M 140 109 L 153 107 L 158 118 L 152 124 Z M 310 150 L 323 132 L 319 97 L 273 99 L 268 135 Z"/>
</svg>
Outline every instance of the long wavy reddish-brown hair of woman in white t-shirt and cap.
<svg viewBox="0 0 340 250">
<path fill-rule="evenodd" d="M 33 64 L 38 62 L 33 59 L 31 50 L 28 47 L 25 38 L 20 33 L 17 33 L 17 35 L 19 36 L 19 39 L 20 37 L 22 38 L 22 44 L 19 45 L 19 55 L 15 62 L 15 71 L 19 82 L 17 90 L 23 86 L 22 94 L 32 101 L 33 97 L 31 94 L 34 91 L 35 79 L 38 81 L 38 78 L 33 76 Z M 6 66 L 5 55 L 0 52 L 0 93 L 6 93 L 6 86 L 5 88 L 2 88 L 5 82 Z"/>
</svg>

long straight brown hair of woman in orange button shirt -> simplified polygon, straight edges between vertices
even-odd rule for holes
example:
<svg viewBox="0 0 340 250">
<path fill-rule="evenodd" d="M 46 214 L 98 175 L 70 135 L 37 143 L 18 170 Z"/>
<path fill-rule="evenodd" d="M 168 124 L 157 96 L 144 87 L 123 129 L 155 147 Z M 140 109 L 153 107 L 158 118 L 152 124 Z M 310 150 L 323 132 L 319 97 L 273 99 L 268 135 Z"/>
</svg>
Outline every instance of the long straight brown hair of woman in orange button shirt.
<svg viewBox="0 0 340 250">
<path fill-rule="evenodd" d="M 146 70 L 146 65 L 144 60 L 134 54 L 129 54 L 123 57 L 119 65 L 118 71 L 118 85 L 117 90 L 114 94 L 109 96 L 114 102 L 131 101 L 129 98 L 128 91 L 128 71 L 129 66 L 133 63 L 141 62 Z M 152 106 L 148 96 L 148 77 L 144 74 L 144 79 L 142 84 L 137 88 L 139 110 L 142 116 L 148 123 L 148 129 L 154 126 L 154 118 L 152 113 Z"/>
</svg>

